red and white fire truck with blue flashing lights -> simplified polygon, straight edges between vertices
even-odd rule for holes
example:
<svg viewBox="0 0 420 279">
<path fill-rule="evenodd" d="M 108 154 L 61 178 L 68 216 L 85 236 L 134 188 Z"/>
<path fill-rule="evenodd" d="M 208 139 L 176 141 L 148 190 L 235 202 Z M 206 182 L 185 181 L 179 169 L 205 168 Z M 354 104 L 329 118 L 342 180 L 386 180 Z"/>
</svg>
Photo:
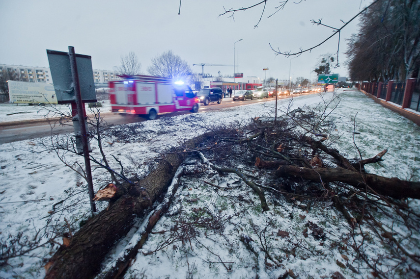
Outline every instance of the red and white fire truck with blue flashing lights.
<svg viewBox="0 0 420 279">
<path fill-rule="evenodd" d="M 200 100 L 188 85 L 159 76 L 120 76 L 110 81 L 112 112 L 144 115 L 156 119 L 158 113 L 190 110 L 197 112 Z"/>
</svg>

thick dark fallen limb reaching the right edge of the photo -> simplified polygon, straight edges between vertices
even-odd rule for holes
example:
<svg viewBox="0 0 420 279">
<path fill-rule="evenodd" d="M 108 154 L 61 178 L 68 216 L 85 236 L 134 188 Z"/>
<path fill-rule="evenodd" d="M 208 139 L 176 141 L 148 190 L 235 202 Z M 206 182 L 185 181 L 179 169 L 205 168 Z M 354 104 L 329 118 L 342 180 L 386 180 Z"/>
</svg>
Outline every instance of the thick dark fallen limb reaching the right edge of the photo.
<svg viewBox="0 0 420 279">
<path fill-rule="evenodd" d="M 278 177 L 301 177 L 311 181 L 322 181 L 323 183 L 343 182 L 362 190 L 365 190 L 366 185 L 368 185 L 376 193 L 394 199 L 420 199 L 420 182 L 404 181 L 399 178 L 385 178 L 343 168 L 309 169 L 297 166 L 282 166 L 276 171 L 276 175 Z M 367 191 L 369 192 L 368 187 Z"/>
</svg>

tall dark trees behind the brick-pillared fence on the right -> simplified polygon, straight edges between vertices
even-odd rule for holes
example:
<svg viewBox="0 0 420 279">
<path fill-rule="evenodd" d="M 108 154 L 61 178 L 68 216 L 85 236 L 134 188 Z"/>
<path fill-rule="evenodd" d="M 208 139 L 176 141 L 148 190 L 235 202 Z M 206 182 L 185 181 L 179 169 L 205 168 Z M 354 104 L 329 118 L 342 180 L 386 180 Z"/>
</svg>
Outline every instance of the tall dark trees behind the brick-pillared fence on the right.
<svg viewBox="0 0 420 279">
<path fill-rule="evenodd" d="M 352 80 L 420 77 L 420 1 L 380 0 L 361 18 L 348 42 Z"/>
</svg>

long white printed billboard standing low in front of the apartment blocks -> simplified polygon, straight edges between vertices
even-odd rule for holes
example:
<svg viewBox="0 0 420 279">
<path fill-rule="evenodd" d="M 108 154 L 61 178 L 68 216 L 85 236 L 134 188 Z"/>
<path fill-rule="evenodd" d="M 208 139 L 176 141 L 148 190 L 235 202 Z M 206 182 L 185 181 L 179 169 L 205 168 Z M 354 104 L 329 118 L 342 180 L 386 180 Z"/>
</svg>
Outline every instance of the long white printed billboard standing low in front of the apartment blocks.
<svg viewBox="0 0 420 279">
<path fill-rule="evenodd" d="M 49 83 L 8 80 L 9 99 L 14 103 L 57 103 L 54 86 Z"/>
</svg>

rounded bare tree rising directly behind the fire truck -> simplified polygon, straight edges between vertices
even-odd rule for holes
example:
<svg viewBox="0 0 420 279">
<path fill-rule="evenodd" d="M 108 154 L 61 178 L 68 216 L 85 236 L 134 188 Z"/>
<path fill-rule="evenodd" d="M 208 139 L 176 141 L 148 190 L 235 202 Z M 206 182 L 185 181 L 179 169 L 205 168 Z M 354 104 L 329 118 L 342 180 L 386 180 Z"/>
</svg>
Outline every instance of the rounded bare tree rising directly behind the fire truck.
<svg viewBox="0 0 420 279">
<path fill-rule="evenodd" d="M 166 51 L 152 58 L 152 66 L 147 68 L 147 72 L 152 76 L 169 77 L 174 80 L 190 78 L 192 75 L 188 63 L 172 51 Z"/>
</svg>

